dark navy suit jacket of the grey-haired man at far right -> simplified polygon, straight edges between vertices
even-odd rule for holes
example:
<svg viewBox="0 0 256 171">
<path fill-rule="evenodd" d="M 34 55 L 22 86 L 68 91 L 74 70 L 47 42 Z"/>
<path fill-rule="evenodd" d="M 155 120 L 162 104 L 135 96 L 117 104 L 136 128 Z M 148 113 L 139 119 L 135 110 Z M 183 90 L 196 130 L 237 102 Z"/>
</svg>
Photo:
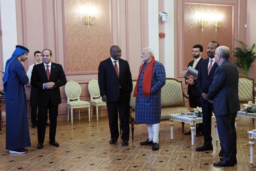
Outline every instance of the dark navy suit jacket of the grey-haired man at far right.
<svg viewBox="0 0 256 171">
<path fill-rule="evenodd" d="M 238 96 L 239 73 L 236 64 L 225 60 L 216 69 L 207 98 L 213 100 L 215 115 L 228 115 L 240 110 Z"/>
</svg>

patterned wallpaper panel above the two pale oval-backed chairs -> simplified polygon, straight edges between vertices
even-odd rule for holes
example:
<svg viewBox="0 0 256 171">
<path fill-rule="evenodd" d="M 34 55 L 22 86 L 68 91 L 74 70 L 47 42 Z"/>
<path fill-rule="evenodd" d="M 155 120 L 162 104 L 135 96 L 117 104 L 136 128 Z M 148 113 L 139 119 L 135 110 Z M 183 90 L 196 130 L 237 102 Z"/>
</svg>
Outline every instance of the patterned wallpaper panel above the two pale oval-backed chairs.
<svg viewBox="0 0 256 171">
<path fill-rule="evenodd" d="M 84 23 L 82 6 L 95 7 L 95 22 Z M 99 62 L 110 56 L 109 0 L 65 0 L 66 73 L 98 71 Z"/>
</svg>

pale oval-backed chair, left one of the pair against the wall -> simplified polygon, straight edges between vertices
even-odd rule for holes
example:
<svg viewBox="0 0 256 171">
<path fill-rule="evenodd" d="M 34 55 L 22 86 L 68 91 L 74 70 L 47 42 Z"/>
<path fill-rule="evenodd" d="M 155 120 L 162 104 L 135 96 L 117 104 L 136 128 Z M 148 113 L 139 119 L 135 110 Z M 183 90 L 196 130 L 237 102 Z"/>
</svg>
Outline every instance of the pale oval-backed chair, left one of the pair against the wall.
<svg viewBox="0 0 256 171">
<path fill-rule="evenodd" d="M 71 110 L 71 124 L 73 124 L 73 109 L 79 109 L 79 121 L 80 121 L 80 109 L 88 107 L 88 116 L 90 122 L 90 103 L 87 101 L 81 101 L 81 86 L 76 81 L 68 81 L 65 85 L 65 94 L 67 96 L 67 121 L 69 121 L 69 113 Z"/>
</svg>

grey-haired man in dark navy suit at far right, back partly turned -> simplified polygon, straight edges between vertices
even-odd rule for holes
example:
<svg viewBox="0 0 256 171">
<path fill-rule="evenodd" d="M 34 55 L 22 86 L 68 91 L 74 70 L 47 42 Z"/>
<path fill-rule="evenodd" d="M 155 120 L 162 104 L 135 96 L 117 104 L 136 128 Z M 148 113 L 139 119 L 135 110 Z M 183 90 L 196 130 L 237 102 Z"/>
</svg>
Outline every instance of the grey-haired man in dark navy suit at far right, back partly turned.
<svg viewBox="0 0 256 171">
<path fill-rule="evenodd" d="M 213 102 L 218 126 L 218 135 L 224 155 L 214 166 L 234 166 L 236 160 L 237 111 L 240 110 L 238 96 L 239 73 L 236 64 L 230 62 L 230 49 L 220 46 L 215 51 L 215 62 L 219 67 L 215 71 L 207 99 Z"/>
</svg>

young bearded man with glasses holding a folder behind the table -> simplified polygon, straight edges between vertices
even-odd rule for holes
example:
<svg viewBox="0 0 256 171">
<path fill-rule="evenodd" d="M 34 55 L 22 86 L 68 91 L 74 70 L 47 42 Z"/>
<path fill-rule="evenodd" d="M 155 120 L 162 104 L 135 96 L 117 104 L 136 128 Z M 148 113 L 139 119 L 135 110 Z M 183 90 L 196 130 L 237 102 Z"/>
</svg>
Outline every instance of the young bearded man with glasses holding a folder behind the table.
<svg viewBox="0 0 256 171">
<path fill-rule="evenodd" d="M 193 61 L 189 62 L 188 67 L 193 67 L 196 70 L 199 69 L 199 65 L 203 58 L 201 57 L 203 53 L 203 46 L 202 45 L 194 45 L 193 50 L 192 50 L 192 56 L 195 58 Z M 201 107 L 200 103 L 200 93 L 198 92 L 198 87 L 197 87 L 197 81 L 192 80 L 192 78 L 186 79 L 185 78 L 185 84 L 188 85 L 188 95 L 189 95 L 189 107 Z M 197 129 L 196 129 L 196 136 L 202 136 L 202 123 L 197 124 Z M 191 135 L 191 131 L 186 132 L 185 135 Z"/>
</svg>

